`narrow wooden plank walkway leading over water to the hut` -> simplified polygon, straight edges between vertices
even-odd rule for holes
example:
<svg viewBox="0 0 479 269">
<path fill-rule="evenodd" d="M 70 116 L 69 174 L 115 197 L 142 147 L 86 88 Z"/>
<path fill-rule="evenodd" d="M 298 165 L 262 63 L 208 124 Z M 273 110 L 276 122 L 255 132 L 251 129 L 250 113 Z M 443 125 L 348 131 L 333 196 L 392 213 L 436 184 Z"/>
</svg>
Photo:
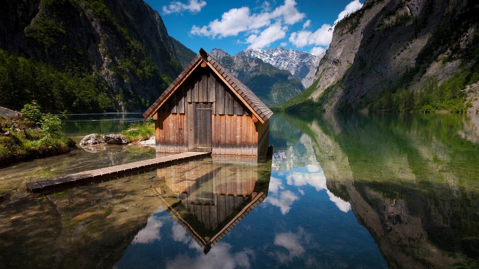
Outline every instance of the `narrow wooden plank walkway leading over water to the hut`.
<svg viewBox="0 0 479 269">
<path fill-rule="evenodd" d="M 57 188 L 69 184 L 76 184 L 85 182 L 91 179 L 104 179 L 107 177 L 117 176 L 120 174 L 141 170 L 144 168 L 151 168 L 155 166 L 161 166 L 165 164 L 171 164 L 174 162 L 192 159 L 197 157 L 204 157 L 210 155 L 210 152 L 195 152 L 188 151 L 185 153 L 178 153 L 173 155 L 168 155 L 164 157 L 148 159 L 144 161 L 137 161 L 134 163 L 127 163 L 117 166 L 105 167 L 95 170 L 83 171 L 76 174 L 70 174 L 66 176 L 51 178 L 51 179 L 42 179 L 38 181 L 27 182 L 27 187 L 32 192 L 45 191 L 52 188 Z"/>
</svg>

